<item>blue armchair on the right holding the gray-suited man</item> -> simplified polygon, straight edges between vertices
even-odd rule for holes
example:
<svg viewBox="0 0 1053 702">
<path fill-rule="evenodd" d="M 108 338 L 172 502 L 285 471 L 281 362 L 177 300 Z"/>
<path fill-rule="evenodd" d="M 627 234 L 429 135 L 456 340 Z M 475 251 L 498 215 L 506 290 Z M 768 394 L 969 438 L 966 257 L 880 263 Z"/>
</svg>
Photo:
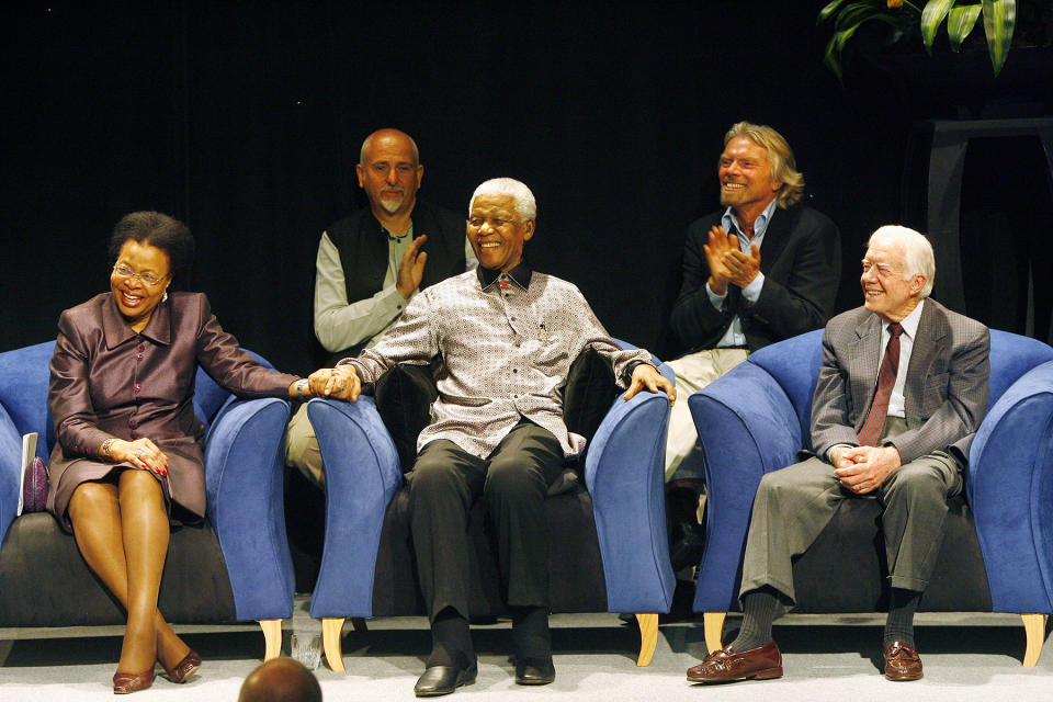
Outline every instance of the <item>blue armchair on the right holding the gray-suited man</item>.
<svg viewBox="0 0 1053 702">
<path fill-rule="evenodd" d="M 738 609 L 760 478 L 811 448 L 822 333 L 761 349 L 688 400 L 707 458 L 706 543 L 694 610 L 705 612 L 710 650 L 721 647 L 725 612 Z M 850 500 L 794 563 L 795 611 L 885 610 L 878 514 L 875 500 Z M 831 581 L 842 585 L 837 593 Z M 1053 612 L 1053 349 L 1040 341 L 990 332 L 987 415 L 919 609 L 1020 613 L 1028 636 L 1023 664 L 1038 661 L 1045 616 Z"/>
</svg>

